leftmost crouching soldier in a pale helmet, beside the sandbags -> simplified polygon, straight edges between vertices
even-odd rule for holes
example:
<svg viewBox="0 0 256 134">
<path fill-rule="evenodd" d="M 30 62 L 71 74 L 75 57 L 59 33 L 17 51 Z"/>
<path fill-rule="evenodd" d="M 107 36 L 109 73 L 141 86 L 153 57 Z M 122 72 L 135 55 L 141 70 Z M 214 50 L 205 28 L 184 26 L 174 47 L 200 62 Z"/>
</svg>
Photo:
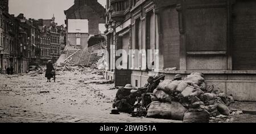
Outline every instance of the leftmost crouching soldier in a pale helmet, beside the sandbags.
<svg viewBox="0 0 256 134">
<path fill-rule="evenodd" d="M 133 106 L 137 100 L 136 97 L 131 94 L 132 89 L 134 89 L 134 87 L 130 84 L 118 89 L 115 101 L 113 103 L 113 108 L 117 107 L 117 110 L 120 112 L 133 112 Z"/>
</svg>

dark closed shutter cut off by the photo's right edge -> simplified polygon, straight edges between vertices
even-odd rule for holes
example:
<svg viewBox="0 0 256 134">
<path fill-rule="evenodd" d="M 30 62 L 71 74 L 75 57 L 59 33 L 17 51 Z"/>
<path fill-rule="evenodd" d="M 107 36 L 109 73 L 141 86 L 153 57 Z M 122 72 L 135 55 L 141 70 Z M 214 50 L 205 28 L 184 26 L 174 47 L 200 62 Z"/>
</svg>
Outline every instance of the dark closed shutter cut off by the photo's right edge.
<svg viewBox="0 0 256 134">
<path fill-rule="evenodd" d="M 256 1 L 237 1 L 233 7 L 233 69 L 256 69 Z"/>
</svg>

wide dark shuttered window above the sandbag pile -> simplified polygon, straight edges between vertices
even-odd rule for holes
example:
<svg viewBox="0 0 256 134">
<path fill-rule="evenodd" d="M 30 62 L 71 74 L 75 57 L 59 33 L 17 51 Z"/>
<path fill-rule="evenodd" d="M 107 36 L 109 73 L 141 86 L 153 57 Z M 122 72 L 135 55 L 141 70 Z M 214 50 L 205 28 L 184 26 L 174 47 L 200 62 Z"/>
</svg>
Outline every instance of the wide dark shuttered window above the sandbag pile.
<svg viewBox="0 0 256 134">
<path fill-rule="evenodd" d="M 187 51 L 226 51 L 227 9 L 225 7 L 186 10 Z"/>
</svg>

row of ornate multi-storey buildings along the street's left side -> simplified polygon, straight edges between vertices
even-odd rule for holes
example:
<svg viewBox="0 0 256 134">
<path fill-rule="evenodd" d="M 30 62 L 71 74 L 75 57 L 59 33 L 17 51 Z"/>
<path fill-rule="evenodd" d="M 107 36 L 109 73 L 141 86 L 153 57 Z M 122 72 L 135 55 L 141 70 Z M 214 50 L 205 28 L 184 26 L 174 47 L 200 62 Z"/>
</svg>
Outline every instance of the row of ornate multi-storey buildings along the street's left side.
<svg viewBox="0 0 256 134">
<path fill-rule="evenodd" d="M 9 14 L 9 1 L 0 1 L 0 73 L 26 73 L 31 65 L 44 65 L 59 58 L 65 47 L 65 29 L 49 20 L 26 19 Z M 60 27 L 60 28 L 57 28 Z"/>
</svg>

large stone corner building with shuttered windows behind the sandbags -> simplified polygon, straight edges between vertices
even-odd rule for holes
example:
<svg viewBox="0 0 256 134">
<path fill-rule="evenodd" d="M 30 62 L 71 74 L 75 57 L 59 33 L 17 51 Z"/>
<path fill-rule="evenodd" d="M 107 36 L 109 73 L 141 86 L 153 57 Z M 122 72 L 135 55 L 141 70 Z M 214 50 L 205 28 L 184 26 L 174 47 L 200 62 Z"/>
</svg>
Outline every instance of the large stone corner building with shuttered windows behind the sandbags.
<svg viewBox="0 0 256 134">
<path fill-rule="evenodd" d="M 107 0 L 107 78 L 142 87 L 152 71 L 167 79 L 200 72 L 234 99 L 256 101 L 255 7 L 249 0 Z M 115 66 L 118 49 L 129 53 L 127 68 Z"/>
</svg>

